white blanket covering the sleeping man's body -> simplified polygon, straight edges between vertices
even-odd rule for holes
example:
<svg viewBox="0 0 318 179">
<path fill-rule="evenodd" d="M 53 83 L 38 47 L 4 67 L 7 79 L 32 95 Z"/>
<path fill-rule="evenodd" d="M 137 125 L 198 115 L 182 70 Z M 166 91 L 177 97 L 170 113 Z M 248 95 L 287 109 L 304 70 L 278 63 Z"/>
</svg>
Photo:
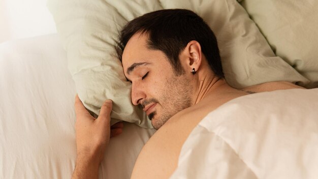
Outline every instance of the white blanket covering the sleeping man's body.
<svg viewBox="0 0 318 179">
<path fill-rule="evenodd" d="M 172 178 L 317 178 L 318 89 L 234 99 L 192 131 Z"/>
</svg>

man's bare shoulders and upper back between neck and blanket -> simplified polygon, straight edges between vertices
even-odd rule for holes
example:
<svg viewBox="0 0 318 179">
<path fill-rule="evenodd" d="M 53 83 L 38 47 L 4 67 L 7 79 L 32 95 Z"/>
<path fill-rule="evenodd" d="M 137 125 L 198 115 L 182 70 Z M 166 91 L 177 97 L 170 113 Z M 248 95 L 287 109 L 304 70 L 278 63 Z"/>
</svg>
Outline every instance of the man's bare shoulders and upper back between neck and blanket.
<svg viewBox="0 0 318 179">
<path fill-rule="evenodd" d="M 268 82 L 242 90 L 230 90 L 224 96 L 206 96 L 198 104 L 186 108 L 162 126 L 143 147 L 136 161 L 132 178 L 169 178 L 178 164 L 181 147 L 190 132 L 212 110 L 220 105 L 248 95 L 248 92 L 266 92 L 301 88 L 289 82 Z"/>
</svg>

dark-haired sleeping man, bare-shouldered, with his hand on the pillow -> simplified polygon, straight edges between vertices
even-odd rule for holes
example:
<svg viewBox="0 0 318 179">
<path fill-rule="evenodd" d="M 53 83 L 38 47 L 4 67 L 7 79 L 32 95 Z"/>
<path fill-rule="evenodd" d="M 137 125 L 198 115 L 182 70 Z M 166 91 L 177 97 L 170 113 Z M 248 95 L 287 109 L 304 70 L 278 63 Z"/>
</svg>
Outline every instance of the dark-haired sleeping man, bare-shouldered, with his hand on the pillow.
<svg viewBox="0 0 318 179">
<path fill-rule="evenodd" d="M 160 10 L 124 26 L 116 45 L 124 75 L 132 82 L 132 103 L 141 105 L 156 133 L 143 147 L 132 178 L 168 178 L 177 168 L 181 147 L 211 111 L 235 98 L 265 91 L 301 88 L 269 82 L 243 89 L 224 78 L 216 38 L 201 17 L 188 10 Z M 97 178 L 109 138 L 112 101 L 94 120 L 78 97 L 77 162 L 74 178 Z M 107 157 L 107 156 L 105 156 Z"/>
</svg>

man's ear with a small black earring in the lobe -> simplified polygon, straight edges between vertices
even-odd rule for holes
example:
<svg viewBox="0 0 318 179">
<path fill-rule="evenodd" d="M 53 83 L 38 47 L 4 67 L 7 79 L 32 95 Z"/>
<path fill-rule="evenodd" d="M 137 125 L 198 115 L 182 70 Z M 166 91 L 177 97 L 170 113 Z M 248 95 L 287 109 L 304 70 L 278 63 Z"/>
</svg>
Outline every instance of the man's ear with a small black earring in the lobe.
<svg viewBox="0 0 318 179">
<path fill-rule="evenodd" d="M 190 41 L 183 50 L 183 67 L 186 71 L 192 72 L 193 69 L 197 72 L 202 62 L 202 51 L 199 42 Z"/>
</svg>

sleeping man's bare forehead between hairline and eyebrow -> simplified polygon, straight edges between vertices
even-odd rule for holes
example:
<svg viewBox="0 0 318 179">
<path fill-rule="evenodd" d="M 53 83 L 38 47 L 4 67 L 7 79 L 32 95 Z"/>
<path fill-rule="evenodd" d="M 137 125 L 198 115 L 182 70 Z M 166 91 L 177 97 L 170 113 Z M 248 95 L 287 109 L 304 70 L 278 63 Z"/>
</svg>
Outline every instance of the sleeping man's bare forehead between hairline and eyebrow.
<svg viewBox="0 0 318 179">
<path fill-rule="evenodd" d="M 165 55 L 160 50 L 151 50 L 147 48 L 147 35 L 137 33 L 126 44 L 122 53 L 122 67 L 124 71 L 137 63 L 165 63 Z M 154 60 L 155 59 L 155 60 Z"/>
</svg>

